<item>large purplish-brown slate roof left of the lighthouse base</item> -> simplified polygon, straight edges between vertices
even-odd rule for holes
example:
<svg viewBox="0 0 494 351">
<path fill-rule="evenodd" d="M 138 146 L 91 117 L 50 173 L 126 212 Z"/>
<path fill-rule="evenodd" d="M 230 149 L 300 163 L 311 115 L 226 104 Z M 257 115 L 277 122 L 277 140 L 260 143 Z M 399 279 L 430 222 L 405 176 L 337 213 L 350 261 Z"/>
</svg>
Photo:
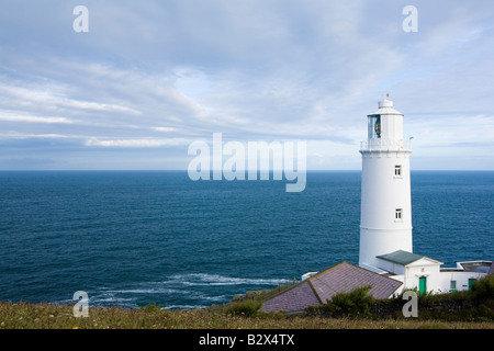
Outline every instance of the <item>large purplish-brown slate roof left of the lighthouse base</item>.
<svg viewBox="0 0 494 351">
<path fill-rule="evenodd" d="M 402 282 L 341 262 L 307 280 L 304 280 L 268 299 L 263 312 L 296 312 L 330 301 L 337 293 L 349 293 L 356 287 L 371 285 L 369 294 L 374 298 L 388 298 Z"/>
</svg>

